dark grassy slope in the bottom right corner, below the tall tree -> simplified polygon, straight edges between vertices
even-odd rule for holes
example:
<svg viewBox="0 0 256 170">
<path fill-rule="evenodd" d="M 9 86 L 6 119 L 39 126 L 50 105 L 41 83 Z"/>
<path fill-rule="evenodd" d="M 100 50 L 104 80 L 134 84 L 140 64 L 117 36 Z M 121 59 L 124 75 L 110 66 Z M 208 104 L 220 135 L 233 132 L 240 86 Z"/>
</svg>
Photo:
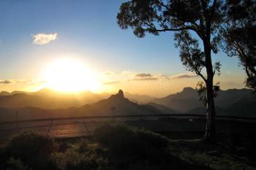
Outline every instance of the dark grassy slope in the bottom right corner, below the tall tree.
<svg viewBox="0 0 256 170">
<path fill-rule="evenodd" d="M 216 170 L 256 169 L 245 157 L 230 155 L 224 144 L 207 144 L 200 139 L 170 141 L 170 150 L 184 161 Z"/>
</svg>

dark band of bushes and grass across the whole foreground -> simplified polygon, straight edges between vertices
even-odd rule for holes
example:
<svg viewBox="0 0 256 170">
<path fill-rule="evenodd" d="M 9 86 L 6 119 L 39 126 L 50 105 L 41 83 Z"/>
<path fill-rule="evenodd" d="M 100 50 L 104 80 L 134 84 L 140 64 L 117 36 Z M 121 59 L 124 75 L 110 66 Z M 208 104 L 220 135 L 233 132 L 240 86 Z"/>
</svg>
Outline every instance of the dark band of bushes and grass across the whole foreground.
<svg viewBox="0 0 256 170">
<path fill-rule="evenodd" d="M 1 147 L 0 169 L 256 169 L 224 144 L 200 139 L 172 140 L 151 131 L 105 124 L 94 139 L 54 141 L 33 131 Z"/>
</svg>

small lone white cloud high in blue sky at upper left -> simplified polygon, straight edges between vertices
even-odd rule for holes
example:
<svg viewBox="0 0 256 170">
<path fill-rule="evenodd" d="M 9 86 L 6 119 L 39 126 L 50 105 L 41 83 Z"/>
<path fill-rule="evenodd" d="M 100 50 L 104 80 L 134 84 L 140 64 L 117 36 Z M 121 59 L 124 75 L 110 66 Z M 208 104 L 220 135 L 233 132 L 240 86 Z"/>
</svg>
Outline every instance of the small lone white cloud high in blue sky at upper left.
<svg viewBox="0 0 256 170">
<path fill-rule="evenodd" d="M 37 35 L 34 35 L 34 44 L 35 45 L 47 45 L 51 41 L 55 40 L 57 38 L 58 34 L 43 34 L 39 33 Z"/>
</svg>

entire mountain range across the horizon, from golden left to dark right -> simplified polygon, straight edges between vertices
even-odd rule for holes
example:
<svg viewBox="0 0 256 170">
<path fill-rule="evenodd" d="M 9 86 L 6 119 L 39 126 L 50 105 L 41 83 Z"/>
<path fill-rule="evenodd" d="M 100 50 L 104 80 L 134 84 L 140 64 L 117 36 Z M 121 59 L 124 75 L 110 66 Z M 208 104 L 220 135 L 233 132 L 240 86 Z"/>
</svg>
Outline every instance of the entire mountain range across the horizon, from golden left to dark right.
<svg viewBox="0 0 256 170">
<path fill-rule="evenodd" d="M 34 93 L 1 92 L 0 120 L 12 120 L 16 110 L 20 119 L 113 114 L 206 114 L 206 108 L 193 88 L 184 88 L 164 98 L 130 93 L 125 93 L 125 96 L 128 97 L 124 97 L 122 91 L 116 95 L 89 91 L 63 94 L 50 89 Z M 256 95 L 249 89 L 219 90 L 215 104 L 217 115 L 256 117 Z"/>
</svg>

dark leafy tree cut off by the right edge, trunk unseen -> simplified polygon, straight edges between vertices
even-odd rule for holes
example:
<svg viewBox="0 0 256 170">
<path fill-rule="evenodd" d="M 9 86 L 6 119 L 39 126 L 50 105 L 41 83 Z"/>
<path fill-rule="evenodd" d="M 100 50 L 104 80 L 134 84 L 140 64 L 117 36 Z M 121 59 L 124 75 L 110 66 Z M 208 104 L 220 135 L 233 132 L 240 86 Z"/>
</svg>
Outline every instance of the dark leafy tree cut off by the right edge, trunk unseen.
<svg viewBox="0 0 256 170">
<path fill-rule="evenodd" d="M 222 49 L 228 56 L 239 59 L 247 75 L 246 86 L 256 92 L 256 2 L 228 0 L 226 3 Z"/>
</svg>

